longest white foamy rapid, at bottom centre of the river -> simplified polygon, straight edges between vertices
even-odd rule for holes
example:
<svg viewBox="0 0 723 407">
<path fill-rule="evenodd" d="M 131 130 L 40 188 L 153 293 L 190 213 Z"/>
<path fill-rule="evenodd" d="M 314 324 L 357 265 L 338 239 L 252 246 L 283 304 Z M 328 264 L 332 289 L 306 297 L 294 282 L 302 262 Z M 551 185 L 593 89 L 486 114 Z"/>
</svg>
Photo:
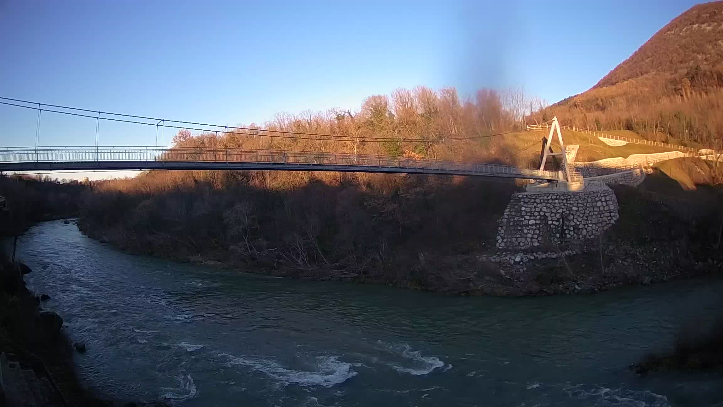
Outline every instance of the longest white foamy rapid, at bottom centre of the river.
<svg viewBox="0 0 723 407">
<path fill-rule="evenodd" d="M 356 372 L 351 370 L 351 364 L 339 361 L 337 356 L 317 356 L 314 372 L 286 369 L 278 362 L 260 356 L 239 357 L 227 353 L 221 353 L 219 356 L 229 359 L 226 366 L 247 367 L 268 374 L 286 385 L 332 387 L 356 376 Z"/>
</svg>

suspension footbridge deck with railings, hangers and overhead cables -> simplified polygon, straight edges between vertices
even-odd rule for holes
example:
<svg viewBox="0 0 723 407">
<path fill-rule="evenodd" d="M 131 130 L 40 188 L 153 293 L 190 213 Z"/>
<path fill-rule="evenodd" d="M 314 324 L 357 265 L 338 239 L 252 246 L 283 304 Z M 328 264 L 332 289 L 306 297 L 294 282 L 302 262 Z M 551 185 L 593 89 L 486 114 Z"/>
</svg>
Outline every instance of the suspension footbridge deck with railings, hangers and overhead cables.
<svg viewBox="0 0 723 407">
<path fill-rule="evenodd" d="M 0 148 L 0 172 L 37 172 L 56 170 L 127 170 L 127 169 L 236 169 L 272 171 L 382 172 L 393 174 L 471 175 L 482 177 L 521 178 L 529 180 L 564 181 L 566 171 L 527 169 L 510 165 L 469 161 L 448 161 L 405 156 L 343 154 L 318 151 L 262 150 L 252 148 L 184 147 L 184 146 L 100 146 L 98 123 L 103 121 L 155 126 L 158 130 L 196 130 L 206 133 L 233 134 L 280 139 L 324 140 L 341 143 L 398 143 L 399 138 L 299 133 L 283 130 L 209 125 L 198 122 L 158 119 L 78 109 L 70 106 L 40 104 L 4 98 L 0 104 L 38 112 L 35 146 Z M 40 125 L 43 113 L 86 117 L 95 121 L 95 146 L 40 146 Z M 507 132 L 509 133 L 509 132 Z M 500 133 L 497 135 L 504 135 Z M 552 130 L 550 131 L 552 135 Z M 445 138 L 469 140 L 496 135 Z M 406 140 L 406 139 L 405 139 Z M 409 139 L 416 143 L 440 142 L 439 139 Z"/>
</svg>

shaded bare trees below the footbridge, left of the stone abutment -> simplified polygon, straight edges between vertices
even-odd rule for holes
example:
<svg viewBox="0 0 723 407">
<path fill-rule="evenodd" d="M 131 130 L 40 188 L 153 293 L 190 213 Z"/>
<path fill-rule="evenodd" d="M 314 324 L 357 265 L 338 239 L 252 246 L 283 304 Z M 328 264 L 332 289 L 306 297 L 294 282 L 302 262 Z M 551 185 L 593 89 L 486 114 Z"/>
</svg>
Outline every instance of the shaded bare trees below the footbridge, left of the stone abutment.
<svg viewBox="0 0 723 407">
<path fill-rule="evenodd" d="M 149 172 L 96 183 L 80 227 L 134 253 L 447 289 L 425 265 L 489 248 L 517 189 L 472 177 Z"/>
</svg>

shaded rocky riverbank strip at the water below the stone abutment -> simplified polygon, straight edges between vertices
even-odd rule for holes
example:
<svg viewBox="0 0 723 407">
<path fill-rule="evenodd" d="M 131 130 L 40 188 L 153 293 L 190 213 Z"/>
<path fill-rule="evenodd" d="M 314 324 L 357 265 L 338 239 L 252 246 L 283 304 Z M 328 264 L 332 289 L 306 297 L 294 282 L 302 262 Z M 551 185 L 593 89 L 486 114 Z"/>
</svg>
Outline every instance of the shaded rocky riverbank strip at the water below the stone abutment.
<svg viewBox="0 0 723 407">
<path fill-rule="evenodd" d="M 560 248 L 560 251 L 500 253 L 479 256 L 492 284 L 471 288 L 470 294 L 552 295 L 594 293 L 625 285 L 656 282 L 719 272 L 723 262 L 701 259 L 687 250 L 685 240 L 630 244 L 601 242 Z M 499 277 L 492 278 L 495 274 Z"/>
</svg>

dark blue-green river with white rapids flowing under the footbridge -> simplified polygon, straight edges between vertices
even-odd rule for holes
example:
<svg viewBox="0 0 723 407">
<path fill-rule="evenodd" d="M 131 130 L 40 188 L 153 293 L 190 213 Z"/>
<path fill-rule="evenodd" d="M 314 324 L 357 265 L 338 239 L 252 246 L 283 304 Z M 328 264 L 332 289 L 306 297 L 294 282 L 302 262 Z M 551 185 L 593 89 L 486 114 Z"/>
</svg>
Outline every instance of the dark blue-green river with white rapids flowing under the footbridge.
<svg viewBox="0 0 723 407">
<path fill-rule="evenodd" d="M 183 406 L 723 406 L 719 374 L 626 366 L 723 311 L 710 277 L 594 295 L 455 298 L 132 256 L 76 225 L 18 257 L 65 319 L 82 381 Z"/>
</svg>

